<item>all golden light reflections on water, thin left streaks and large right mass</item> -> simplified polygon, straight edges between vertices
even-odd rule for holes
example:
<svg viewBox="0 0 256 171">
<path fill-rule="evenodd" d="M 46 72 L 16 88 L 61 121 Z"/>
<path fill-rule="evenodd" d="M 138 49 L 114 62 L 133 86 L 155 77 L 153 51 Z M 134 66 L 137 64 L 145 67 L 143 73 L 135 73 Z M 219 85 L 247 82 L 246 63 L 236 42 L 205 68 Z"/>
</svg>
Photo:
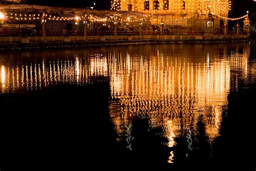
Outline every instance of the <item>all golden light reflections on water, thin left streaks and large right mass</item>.
<svg viewBox="0 0 256 171">
<path fill-rule="evenodd" d="M 144 52 L 134 55 L 130 51 L 108 53 L 107 56 L 97 53 L 85 61 L 79 57 L 43 59 L 40 64 L 23 63 L 19 69 L 2 66 L 2 87 L 24 86 L 32 90 L 41 84 L 43 87 L 83 80 L 89 83 L 91 77 L 109 76 L 111 97 L 120 99 L 118 115 L 121 117 L 113 119 L 118 125 L 115 129 L 127 133 L 124 120 L 131 120 L 139 113 L 149 119 L 151 129 L 164 127 L 168 146 L 173 147 L 176 137 L 186 136 L 189 131 L 192 137 L 197 134 L 198 115 L 202 115 L 208 138 L 213 140 L 219 136 L 221 112 L 232 84 L 231 69 L 242 71 L 242 78 L 251 74 L 247 51 L 231 55 L 226 52 L 224 58 L 210 52 L 206 53 L 206 61 L 205 54 L 200 61 L 200 56 L 194 60 L 188 53 L 167 56 L 162 49 L 156 50 L 152 55 Z"/>
</svg>

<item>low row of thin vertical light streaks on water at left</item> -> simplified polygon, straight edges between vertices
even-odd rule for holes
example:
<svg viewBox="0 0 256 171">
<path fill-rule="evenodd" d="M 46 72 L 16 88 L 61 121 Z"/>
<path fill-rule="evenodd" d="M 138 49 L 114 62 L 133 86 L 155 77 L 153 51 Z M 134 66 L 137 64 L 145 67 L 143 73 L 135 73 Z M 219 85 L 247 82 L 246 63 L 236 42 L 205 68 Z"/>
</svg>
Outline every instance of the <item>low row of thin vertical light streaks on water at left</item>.
<svg viewBox="0 0 256 171">
<path fill-rule="evenodd" d="M 45 56 L 45 53 L 42 53 Z M 72 55 L 67 51 L 67 55 Z M 30 56 L 29 52 L 23 56 Z M 9 56 L 12 58 L 12 53 Z M 8 57 L 8 58 L 9 58 Z M 41 61 L 31 61 L 16 66 L 1 66 L 1 92 L 17 90 L 37 90 L 57 84 L 89 84 L 95 81 L 107 80 L 106 58 L 92 54 L 85 63 L 81 58 L 48 60 L 41 57 Z"/>
</svg>

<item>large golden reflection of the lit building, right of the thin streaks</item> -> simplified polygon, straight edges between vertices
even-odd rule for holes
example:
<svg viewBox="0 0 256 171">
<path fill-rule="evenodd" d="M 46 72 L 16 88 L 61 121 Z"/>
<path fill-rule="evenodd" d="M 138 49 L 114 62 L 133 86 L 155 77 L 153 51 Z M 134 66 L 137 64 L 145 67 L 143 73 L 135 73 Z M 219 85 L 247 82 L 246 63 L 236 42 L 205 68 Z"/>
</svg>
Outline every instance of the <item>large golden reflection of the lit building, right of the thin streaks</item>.
<svg viewBox="0 0 256 171">
<path fill-rule="evenodd" d="M 203 49 L 197 46 L 193 51 Z M 208 141 L 213 143 L 220 135 L 228 93 L 237 90 L 237 78 L 246 79 L 251 70 L 248 45 L 242 52 L 228 51 L 226 46 L 206 47 L 196 56 L 177 45 L 158 47 L 140 54 L 127 51 L 108 56 L 110 116 L 119 137 L 127 138 L 127 123 L 141 117 L 149 120 L 150 129 L 163 128 L 170 148 L 177 137 L 185 136 L 192 150 L 198 122 L 203 122 Z"/>
</svg>

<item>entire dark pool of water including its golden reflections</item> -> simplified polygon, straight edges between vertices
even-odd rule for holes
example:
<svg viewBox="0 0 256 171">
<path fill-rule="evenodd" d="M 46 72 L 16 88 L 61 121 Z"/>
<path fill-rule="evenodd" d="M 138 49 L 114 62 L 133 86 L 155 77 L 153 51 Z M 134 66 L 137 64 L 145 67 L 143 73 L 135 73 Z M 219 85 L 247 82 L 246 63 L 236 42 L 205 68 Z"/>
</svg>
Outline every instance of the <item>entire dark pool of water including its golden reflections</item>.
<svg viewBox="0 0 256 171">
<path fill-rule="evenodd" d="M 1 51 L 0 169 L 255 170 L 255 49 Z"/>
</svg>

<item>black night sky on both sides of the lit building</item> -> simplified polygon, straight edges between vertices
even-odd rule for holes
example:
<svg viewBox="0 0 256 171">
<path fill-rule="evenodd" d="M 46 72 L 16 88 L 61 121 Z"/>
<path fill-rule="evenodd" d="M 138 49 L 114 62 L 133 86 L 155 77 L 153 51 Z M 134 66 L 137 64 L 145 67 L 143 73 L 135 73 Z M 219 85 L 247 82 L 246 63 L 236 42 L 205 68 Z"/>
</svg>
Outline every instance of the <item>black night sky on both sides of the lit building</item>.
<svg viewBox="0 0 256 171">
<path fill-rule="evenodd" d="M 110 0 L 28 0 L 28 2 L 33 4 L 82 8 L 90 6 L 95 2 L 99 10 L 110 9 Z M 234 8 L 232 15 L 234 16 L 246 13 L 246 10 L 256 12 L 256 2 L 252 2 L 252 0 L 233 0 L 233 3 Z"/>
</svg>

